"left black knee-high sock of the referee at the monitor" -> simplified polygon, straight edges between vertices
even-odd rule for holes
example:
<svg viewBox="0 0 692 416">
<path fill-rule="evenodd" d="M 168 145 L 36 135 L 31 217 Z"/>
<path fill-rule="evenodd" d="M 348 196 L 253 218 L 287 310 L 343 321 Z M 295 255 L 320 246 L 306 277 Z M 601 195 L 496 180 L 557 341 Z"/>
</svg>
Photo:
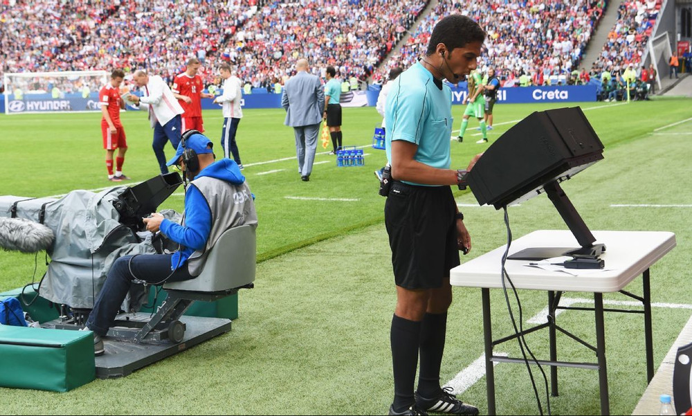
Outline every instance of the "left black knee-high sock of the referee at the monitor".
<svg viewBox="0 0 692 416">
<path fill-rule="evenodd" d="M 394 315 L 392 318 L 392 363 L 394 367 L 394 403 L 397 413 L 414 404 L 413 384 L 418 367 L 421 323 Z"/>
</svg>

